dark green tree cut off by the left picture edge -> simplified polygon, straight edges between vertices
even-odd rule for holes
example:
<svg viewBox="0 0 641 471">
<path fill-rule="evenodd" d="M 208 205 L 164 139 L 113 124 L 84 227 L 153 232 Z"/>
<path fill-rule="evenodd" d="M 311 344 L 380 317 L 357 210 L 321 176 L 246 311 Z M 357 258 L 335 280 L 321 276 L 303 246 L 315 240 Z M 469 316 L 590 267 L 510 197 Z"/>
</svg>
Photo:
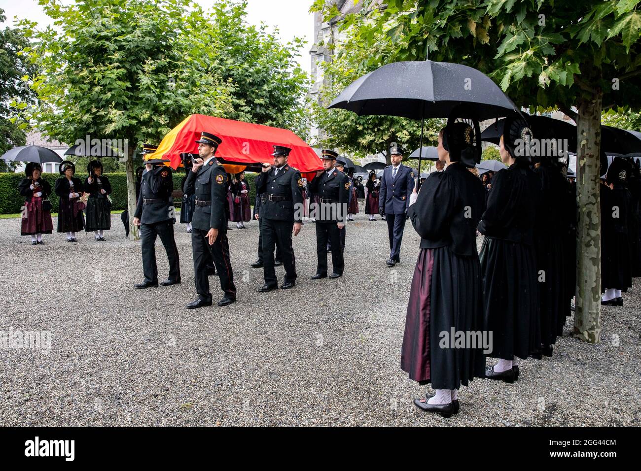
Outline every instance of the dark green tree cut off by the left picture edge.
<svg viewBox="0 0 641 471">
<path fill-rule="evenodd" d="M 0 8 L 0 22 L 3 21 L 6 17 Z M 35 99 L 35 93 L 25 78 L 35 75 L 37 66 L 25 62 L 20 55 L 28 44 L 20 29 L 0 29 L 0 155 L 26 142 L 26 134 L 19 126 L 18 112 L 10 104 L 15 100 L 31 103 Z M 12 171 L 16 165 L 0 160 L 0 172 Z"/>
</svg>

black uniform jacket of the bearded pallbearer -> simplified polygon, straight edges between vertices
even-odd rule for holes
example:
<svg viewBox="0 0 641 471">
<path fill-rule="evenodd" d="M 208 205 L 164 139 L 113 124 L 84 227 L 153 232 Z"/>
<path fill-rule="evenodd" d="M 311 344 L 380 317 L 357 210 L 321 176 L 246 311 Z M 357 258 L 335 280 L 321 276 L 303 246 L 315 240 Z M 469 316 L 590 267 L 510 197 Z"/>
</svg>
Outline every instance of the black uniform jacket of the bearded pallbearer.
<svg viewBox="0 0 641 471">
<path fill-rule="evenodd" d="M 284 165 L 274 176 L 274 169 L 261 172 L 256 178 L 256 192 L 265 193 L 260 217 L 265 219 L 303 222 L 303 179 L 301 172 Z M 269 197 L 285 197 L 285 201 L 269 201 Z"/>
</svg>

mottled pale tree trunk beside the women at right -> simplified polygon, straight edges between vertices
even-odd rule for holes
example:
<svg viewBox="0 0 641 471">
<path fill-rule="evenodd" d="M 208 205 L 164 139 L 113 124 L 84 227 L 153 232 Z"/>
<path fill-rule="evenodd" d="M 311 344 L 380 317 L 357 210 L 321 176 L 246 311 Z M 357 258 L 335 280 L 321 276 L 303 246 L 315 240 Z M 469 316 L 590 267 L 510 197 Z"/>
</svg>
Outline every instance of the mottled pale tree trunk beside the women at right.
<svg viewBox="0 0 641 471">
<path fill-rule="evenodd" d="M 578 103 L 576 231 L 576 308 L 574 336 L 590 343 L 601 340 L 601 101 L 599 90 Z"/>
</svg>

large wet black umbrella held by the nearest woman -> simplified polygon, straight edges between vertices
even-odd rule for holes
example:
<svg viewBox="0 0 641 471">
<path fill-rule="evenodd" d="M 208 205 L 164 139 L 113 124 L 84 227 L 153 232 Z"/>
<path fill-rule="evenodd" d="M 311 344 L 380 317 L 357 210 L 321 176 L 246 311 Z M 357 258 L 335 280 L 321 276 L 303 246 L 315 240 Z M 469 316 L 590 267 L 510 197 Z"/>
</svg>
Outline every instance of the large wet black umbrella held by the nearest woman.
<svg viewBox="0 0 641 471">
<path fill-rule="evenodd" d="M 519 115 L 512 100 L 485 74 L 467 65 L 431 60 L 383 65 L 347 85 L 329 108 L 359 116 L 420 119 L 419 168 L 426 118 L 447 118 L 455 108 L 477 120 Z"/>
</svg>

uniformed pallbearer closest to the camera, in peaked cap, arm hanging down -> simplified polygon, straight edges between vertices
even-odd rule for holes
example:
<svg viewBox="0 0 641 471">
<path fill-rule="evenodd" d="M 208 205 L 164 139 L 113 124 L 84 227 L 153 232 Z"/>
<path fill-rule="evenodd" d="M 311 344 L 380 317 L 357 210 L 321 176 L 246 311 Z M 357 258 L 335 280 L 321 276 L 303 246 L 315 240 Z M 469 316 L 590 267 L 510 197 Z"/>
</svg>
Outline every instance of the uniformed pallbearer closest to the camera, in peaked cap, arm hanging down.
<svg viewBox="0 0 641 471">
<path fill-rule="evenodd" d="M 196 142 L 199 158 L 194 160 L 187 176 L 185 193 L 196 195 L 192 215 L 192 253 L 198 299 L 187 304 L 187 309 L 212 305 L 207 277 L 207 261 L 210 256 L 221 280 L 221 289 L 225 293 L 218 305 L 227 306 L 236 301 L 227 239 L 227 178 L 224 167 L 214 156 L 222 140 L 203 131 Z"/>
</svg>

